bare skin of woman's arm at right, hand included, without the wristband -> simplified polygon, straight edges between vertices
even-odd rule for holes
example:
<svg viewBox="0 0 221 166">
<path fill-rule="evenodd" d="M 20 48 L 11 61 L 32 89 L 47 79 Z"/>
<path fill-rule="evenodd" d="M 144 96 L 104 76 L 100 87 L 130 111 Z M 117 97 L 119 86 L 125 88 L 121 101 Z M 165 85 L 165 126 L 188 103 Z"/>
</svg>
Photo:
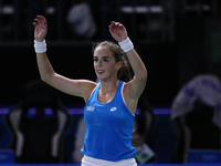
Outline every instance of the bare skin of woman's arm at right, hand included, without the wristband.
<svg viewBox="0 0 221 166">
<path fill-rule="evenodd" d="M 117 42 L 122 42 L 128 37 L 126 28 L 119 22 L 112 21 L 109 25 L 109 32 Z M 135 76 L 131 81 L 125 84 L 123 93 L 127 107 L 131 113 L 135 113 L 137 108 L 137 102 L 146 85 L 147 70 L 134 49 L 126 52 L 126 54 Z"/>
</svg>

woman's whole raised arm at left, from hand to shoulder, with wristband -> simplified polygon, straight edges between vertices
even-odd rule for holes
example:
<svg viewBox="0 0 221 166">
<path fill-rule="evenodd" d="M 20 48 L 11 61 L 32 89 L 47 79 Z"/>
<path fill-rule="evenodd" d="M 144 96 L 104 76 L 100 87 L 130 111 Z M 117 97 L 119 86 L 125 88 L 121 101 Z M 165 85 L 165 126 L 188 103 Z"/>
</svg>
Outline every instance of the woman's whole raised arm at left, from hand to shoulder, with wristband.
<svg viewBox="0 0 221 166">
<path fill-rule="evenodd" d="M 43 42 L 48 31 L 45 18 L 42 15 L 36 15 L 33 25 L 35 28 L 34 40 L 36 42 Z M 38 45 L 35 45 L 35 48 L 38 48 Z M 64 93 L 81 96 L 86 101 L 93 89 L 96 86 L 96 83 L 86 80 L 71 80 L 55 73 L 53 66 L 48 59 L 45 50 L 42 50 L 43 51 L 41 51 L 41 49 L 40 51 L 35 50 L 38 52 L 36 62 L 41 79 Z"/>
</svg>

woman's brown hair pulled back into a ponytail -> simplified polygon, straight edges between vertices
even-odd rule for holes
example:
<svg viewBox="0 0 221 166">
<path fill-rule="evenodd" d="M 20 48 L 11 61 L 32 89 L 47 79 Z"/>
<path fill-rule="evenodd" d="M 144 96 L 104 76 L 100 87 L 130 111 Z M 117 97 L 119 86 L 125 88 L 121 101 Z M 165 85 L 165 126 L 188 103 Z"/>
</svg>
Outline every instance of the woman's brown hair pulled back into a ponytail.
<svg viewBox="0 0 221 166">
<path fill-rule="evenodd" d="M 123 62 L 122 68 L 117 72 L 117 79 L 124 82 L 130 81 L 131 80 L 130 65 L 129 65 L 126 53 L 119 48 L 119 45 L 109 41 L 98 42 L 93 45 L 93 49 L 92 49 L 93 54 L 97 46 L 107 46 L 113 52 L 113 55 L 116 62 L 120 62 L 120 61 Z"/>
</svg>

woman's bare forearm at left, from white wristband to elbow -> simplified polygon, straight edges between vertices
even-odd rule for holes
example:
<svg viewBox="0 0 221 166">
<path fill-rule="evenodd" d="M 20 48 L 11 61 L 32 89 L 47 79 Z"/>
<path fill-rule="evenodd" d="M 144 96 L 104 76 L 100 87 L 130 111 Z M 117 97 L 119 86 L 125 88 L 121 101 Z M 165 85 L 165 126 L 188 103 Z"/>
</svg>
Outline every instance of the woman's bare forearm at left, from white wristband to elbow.
<svg viewBox="0 0 221 166">
<path fill-rule="evenodd" d="M 50 79 L 55 74 L 54 70 L 46 56 L 46 52 L 36 53 L 36 62 L 39 66 L 40 76 L 43 81 L 50 82 Z"/>
</svg>

